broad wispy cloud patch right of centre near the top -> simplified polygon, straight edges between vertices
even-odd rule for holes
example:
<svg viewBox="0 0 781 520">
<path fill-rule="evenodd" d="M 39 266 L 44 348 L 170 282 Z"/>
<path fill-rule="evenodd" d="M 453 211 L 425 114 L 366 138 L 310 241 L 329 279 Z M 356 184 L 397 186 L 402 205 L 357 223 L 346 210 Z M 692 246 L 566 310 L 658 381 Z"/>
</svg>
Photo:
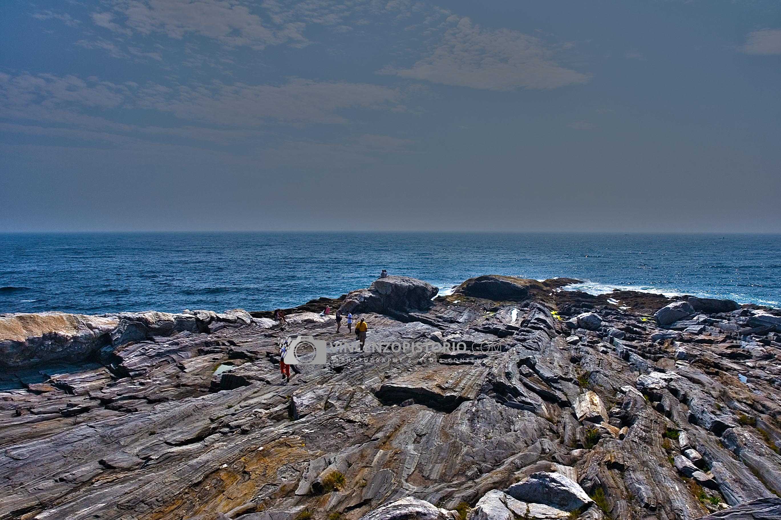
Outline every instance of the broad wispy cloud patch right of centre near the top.
<svg viewBox="0 0 781 520">
<path fill-rule="evenodd" d="M 553 59 L 554 51 L 536 37 L 515 30 L 483 29 L 462 18 L 445 31 L 429 56 L 409 69 L 387 67 L 380 73 L 487 90 L 548 89 L 588 80 Z"/>
</svg>

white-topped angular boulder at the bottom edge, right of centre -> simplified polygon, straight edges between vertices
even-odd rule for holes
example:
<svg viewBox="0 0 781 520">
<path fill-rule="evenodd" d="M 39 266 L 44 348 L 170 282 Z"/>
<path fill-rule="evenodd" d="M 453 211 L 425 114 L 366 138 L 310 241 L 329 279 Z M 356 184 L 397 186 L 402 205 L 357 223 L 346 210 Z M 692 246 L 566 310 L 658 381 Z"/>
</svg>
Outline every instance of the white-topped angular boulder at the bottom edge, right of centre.
<svg viewBox="0 0 781 520">
<path fill-rule="evenodd" d="M 565 511 L 594 503 L 578 483 L 557 472 L 532 473 L 508 487 L 507 494 L 522 502 L 546 504 Z"/>
</svg>

